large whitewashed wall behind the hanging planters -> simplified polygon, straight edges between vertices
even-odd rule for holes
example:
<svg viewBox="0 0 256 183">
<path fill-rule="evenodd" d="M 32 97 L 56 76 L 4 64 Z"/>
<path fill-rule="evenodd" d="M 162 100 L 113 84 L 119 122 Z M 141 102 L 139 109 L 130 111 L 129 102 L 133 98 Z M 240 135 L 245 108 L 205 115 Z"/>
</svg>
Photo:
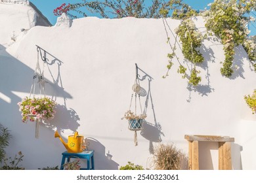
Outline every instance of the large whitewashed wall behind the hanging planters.
<svg viewBox="0 0 256 183">
<path fill-rule="evenodd" d="M 194 21 L 205 31 L 202 18 Z M 95 150 L 95 169 L 118 169 L 127 161 L 150 168 L 150 152 L 160 141 L 174 142 L 187 153 L 184 135 L 223 135 L 235 138 L 233 168 L 256 169 L 256 116 L 243 98 L 253 92 L 256 75 L 243 48 L 236 49 L 234 63 L 240 68 L 232 78 L 221 76 L 223 46 L 213 37 L 204 41 L 201 49 L 205 62 L 200 66 L 200 86 L 188 87 L 177 73 L 177 63 L 163 79 L 167 53 L 171 52 L 165 29 L 173 43 L 171 31 L 178 25 L 179 20 L 171 19 L 164 26 L 161 19 L 81 18 L 71 27 L 30 29 L 0 56 L 0 92 L 10 99 L 0 100 L 0 122 L 13 135 L 8 155 L 21 150 L 26 169 L 60 165 L 65 149 L 54 139 L 57 129 L 65 138 L 74 131 L 88 138 L 89 148 Z M 59 104 L 50 125 L 40 125 L 39 139 L 34 138 L 35 124 L 21 122 L 16 105 L 30 93 L 37 61 L 35 44 L 51 54 L 46 55 L 53 61 L 51 73 L 45 65 L 46 93 Z M 182 60 L 180 46 L 177 52 Z M 148 124 L 138 133 L 138 146 L 127 121 L 121 120 L 133 93 L 135 63 L 142 78 L 140 85 L 147 93 L 141 97 L 142 108 L 147 105 L 148 114 Z M 200 169 L 218 169 L 217 159 L 217 143 L 200 142 Z"/>
</svg>

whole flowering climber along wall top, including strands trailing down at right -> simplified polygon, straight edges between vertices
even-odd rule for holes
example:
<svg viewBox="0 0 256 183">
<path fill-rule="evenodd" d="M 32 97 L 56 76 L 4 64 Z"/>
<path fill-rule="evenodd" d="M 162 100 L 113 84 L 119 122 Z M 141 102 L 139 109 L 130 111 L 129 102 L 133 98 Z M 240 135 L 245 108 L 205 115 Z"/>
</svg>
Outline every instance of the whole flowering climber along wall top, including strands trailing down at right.
<svg viewBox="0 0 256 183">
<path fill-rule="evenodd" d="M 59 15 L 66 12 L 71 18 L 77 18 L 72 12 L 89 16 L 88 12 L 99 14 L 102 18 L 123 18 L 133 16 L 135 18 L 163 18 L 163 23 L 167 24 L 165 18 L 172 12 L 172 18 L 181 20 L 181 24 L 175 29 L 175 43 L 172 45 L 170 37 L 167 36 L 167 43 L 171 47 L 171 52 L 167 54 L 169 58 L 167 64 L 168 73 L 177 61 L 179 63 L 178 73 L 182 78 L 188 79 L 188 83 L 197 86 L 202 80 L 197 64 L 203 62 L 200 47 L 207 35 L 215 35 L 221 39 L 224 50 L 224 60 L 221 62 L 221 74 L 226 77 L 234 73 L 233 59 L 234 49 L 238 45 L 244 46 L 247 56 L 254 70 L 256 71 L 255 42 L 250 40 L 247 24 L 255 21 L 252 16 L 247 16 L 252 10 L 256 10 L 256 0 L 214 0 L 209 4 L 209 10 L 202 14 L 192 10 L 183 3 L 182 0 L 152 0 L 151 5 L 146 7 L 144 0 L 104 0 L 85 1 L 68 5 L 61 5 L 54 10 L 54 14 Z M 205 18 L 207 34 L 202 35 L 193 22 L 193 17 L 202 15 Z M 182 54 L 184 60 L 177 56 L 178 38 L 182 43 Z"/>
</svg>

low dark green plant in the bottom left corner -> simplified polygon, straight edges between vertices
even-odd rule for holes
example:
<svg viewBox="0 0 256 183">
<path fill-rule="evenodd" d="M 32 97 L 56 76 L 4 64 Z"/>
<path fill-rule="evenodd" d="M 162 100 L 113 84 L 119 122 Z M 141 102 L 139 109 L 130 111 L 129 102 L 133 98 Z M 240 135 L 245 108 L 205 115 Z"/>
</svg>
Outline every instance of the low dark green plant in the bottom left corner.
<svg viewBox="0 0 256 183">
<path fill-rule="evenodd" d="M 4 159 L 4 165 L 3 167 L 1 167 L 1 169 L 3 170 L 22 170 L 24 168 L 22 167 L 18 167 L 18 164 L 20 163 L 20 161 L 23 161 L 24 155 L 22 154 L 22 152 L 18 152 L 18 156 L 17 154 L 14 156 L 14 158 L 5 158 Z"/>
</svg>

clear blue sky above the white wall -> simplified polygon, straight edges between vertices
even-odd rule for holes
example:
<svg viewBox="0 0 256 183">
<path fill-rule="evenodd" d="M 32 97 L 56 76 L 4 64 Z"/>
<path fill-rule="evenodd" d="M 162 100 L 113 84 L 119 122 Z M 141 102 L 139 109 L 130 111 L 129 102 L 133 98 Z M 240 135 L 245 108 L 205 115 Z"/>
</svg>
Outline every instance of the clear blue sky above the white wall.
<svg viewBox="0 0 256 183">
<path fill-rule="evenodd" d="M 62 3 L 79 3 L 82 2 L 81 0 L 30 0 L 41 12 L 48 18 L 48 20 L 51 22 L 51 24 L 56 24 L 57 16 L 54 16 L 53 10 L 56 7 L 59 7 L 62 5 Z M 147 2 L 146 0 L 145 2 Z M 151 1 L 148 1 L 151 2 Z M 184 3 L 187 3 L 192 8 L 196 10 L 202 10 L 209 3 L 212 3 L 213 0 L 184 0 Z M 256 12 L 254 12 L 256 14 Z M 254 16 L 254 14 L 251 14 L 251 16 Z M 256 18 L 256 17 L 255 17 Z M 251 30 L 251 35 L 256 35 L 256 22 L 253 23 L 253 25 L 249 26 Z"/>
</svg>

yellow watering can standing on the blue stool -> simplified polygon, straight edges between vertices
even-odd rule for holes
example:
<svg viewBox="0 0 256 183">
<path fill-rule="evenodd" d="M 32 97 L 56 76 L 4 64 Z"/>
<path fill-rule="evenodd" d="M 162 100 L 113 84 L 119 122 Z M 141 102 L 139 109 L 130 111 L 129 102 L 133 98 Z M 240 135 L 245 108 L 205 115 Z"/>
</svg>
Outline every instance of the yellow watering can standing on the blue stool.
<svg viewBox="0 0 256 183">
<path fill-rule="evenodd" d="M 74 135 L 68 136 L 68 143 L 63 141 L 58 131 L 55 131 L 54 137 L 60 138 L 60 141 L 65 146 L 68 152 L 70 153 L 83 152 L 83 136 L 78 135 L 77 131 L 75 131 Z"/>
</svg>

